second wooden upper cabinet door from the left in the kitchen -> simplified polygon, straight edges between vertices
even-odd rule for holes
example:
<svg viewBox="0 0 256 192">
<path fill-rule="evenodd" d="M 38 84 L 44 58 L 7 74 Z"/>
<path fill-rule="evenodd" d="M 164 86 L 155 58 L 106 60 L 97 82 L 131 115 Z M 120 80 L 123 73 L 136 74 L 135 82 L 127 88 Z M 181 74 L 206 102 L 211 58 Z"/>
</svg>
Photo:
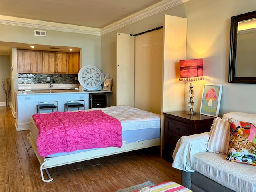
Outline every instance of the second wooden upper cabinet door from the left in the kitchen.
<svg viewBox="0 0 256 192">
<path fill-rule="evenodd" d="M 30 72 L 43 73 L 43 52 L 30 50 Z"/>
</svg>

